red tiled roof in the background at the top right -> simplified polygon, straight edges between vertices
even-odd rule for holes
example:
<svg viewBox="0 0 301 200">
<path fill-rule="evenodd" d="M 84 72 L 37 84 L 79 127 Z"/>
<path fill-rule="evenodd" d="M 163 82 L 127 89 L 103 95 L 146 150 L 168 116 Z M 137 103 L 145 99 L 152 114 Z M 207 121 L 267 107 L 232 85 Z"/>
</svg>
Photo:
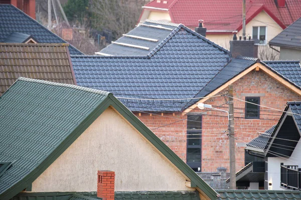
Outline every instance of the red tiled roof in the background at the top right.
<svg viewBox="0 0 301 200">
<path fill-rule="evenodd" d="M 242 0 L 153 0 L 145 6 L 168 8 L 172 22 L 189 27 L 203 19 L 208 30 L 239 30 Z M 246 0 L 247 22 L 260 11 L 266 11 L 282 28 L 301 16 L 301 0 L 286 0 L 286 7 L 277 7 L 274 0 Z"/>
</svg>

